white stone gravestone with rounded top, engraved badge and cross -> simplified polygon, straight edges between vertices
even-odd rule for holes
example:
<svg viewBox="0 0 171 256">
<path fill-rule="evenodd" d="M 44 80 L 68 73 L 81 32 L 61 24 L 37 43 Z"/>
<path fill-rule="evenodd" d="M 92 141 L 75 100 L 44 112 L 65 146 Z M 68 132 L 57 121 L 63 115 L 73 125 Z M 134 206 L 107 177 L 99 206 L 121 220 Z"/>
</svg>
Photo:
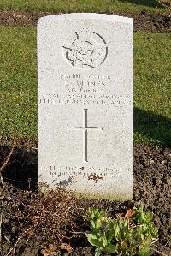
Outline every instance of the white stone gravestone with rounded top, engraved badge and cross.
<svg viewBox="0 0 171 256">
<path fill-rule="evenodd" d="M 132 19 L 39 19 L 38 181 L 91 198 L 133 198 Z"/>
</svg>

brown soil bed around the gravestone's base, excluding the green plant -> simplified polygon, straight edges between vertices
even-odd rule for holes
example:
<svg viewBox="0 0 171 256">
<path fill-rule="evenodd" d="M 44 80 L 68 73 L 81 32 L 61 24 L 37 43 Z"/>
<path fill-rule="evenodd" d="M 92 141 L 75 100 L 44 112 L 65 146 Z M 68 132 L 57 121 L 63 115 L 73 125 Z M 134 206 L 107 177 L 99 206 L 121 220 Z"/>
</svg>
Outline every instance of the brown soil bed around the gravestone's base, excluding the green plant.
<svg viewBox="0 0 171 256">
<path fill-rule="evenodd" d="M 0 164 L 9 148 L 1 147 Z M 84 216 L 88 207 L 107 209 L 110 217 L 133 206 L 152 211 L 159 228 L 156 250 L 169 255 L 171 149 L 134 146 L 134 199 L 123 203 L 108 200 L 78 199 L 62 188 L 46 194 L 36 192 L 37 152 L 16 147 L 3 171 L 4 188 L 0 202 L 3 213 L 2 256 L 40 256 L 42 249 L 56 245 L 56 255 L 94 255 L 86 241 L 89 225 Z M 18 181 L 18 182 L 17 182 Z M 66 243 L 73 252 L 66 254 Z M 11 250 L 11 251 L 10 251 Z M 157 254 L 156 255 L 160 255 Z"/>
</svg>

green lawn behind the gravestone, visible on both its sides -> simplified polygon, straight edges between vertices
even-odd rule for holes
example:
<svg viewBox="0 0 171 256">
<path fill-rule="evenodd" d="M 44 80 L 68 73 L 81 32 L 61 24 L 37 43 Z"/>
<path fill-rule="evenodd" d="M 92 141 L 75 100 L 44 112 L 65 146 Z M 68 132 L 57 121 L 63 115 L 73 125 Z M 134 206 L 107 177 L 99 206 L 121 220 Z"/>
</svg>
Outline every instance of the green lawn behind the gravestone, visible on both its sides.
<svg viewBox="0 0 171 256">
<path fill-rule="evenodd" d="M 36 29 L 0 27 L 0 138 L 37 138 Z M 134 140 L 171 145 L 170 35 L 134 35 Z"/>
</svg>

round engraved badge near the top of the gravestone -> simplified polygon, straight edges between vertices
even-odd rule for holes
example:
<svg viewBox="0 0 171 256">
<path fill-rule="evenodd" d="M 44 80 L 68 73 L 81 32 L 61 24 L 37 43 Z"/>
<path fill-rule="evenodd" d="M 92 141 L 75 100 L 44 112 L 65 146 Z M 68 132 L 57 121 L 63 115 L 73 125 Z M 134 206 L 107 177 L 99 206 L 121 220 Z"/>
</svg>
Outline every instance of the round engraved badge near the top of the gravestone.
<svg viewBox="0 0 171 256">
<path fill-rule="evenodd" d="M 103 37 L 90 29 L 75 32 L 75 39 L 66 42 L 62 48 L 68 63 L 74 68 L 97 68 L 108 54 Z"/>
</svg>

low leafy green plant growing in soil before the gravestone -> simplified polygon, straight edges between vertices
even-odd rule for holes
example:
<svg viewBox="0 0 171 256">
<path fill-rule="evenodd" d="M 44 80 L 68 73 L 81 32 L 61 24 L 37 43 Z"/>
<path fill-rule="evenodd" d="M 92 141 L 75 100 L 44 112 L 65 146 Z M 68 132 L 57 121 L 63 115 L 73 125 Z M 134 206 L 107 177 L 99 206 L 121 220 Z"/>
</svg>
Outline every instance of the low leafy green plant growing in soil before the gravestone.
<svg viewBox="0 0 171 256">
<path fill-rule="evenodd" d="M 95 256 L 102 252 L 115 255 L 150 255 L 151 242 L 157 236 L 157 229 L 152 223 L 152 214 L 142 208 L 135 210 L 133 218 L 107 217 L 106 211 L 89 209 L 91 232 L 87 239 L 97 247 Z"/>
</svg>

